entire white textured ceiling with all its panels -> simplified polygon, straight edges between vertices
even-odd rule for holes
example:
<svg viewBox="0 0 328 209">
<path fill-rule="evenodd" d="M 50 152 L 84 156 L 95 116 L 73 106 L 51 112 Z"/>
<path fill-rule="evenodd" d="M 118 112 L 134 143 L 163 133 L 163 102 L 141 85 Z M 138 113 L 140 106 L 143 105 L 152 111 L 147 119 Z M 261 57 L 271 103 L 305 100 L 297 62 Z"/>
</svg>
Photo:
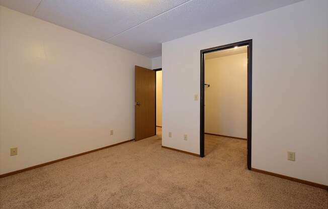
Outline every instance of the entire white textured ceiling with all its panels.
<svg viewBox="0 0 328 209">
<path fill-rule="evenodd" d="M 0 0 L 0 5 L 129 49 L 161 43 L 301 0 Z"/>
</svg>

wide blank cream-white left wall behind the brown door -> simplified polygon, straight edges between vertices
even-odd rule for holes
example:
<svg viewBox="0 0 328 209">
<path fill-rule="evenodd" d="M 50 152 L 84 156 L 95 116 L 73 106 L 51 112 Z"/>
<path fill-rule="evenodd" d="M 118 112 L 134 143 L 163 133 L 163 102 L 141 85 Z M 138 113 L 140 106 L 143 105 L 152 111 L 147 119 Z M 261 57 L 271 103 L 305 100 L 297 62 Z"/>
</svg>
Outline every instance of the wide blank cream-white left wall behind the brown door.
<svg viewBox="0 0 328 209">
<path fill-rule="evenodd" d="M 134 65 L 151 60 L 0 7 L 0 174 L 133 139 Z"/>
</svg>

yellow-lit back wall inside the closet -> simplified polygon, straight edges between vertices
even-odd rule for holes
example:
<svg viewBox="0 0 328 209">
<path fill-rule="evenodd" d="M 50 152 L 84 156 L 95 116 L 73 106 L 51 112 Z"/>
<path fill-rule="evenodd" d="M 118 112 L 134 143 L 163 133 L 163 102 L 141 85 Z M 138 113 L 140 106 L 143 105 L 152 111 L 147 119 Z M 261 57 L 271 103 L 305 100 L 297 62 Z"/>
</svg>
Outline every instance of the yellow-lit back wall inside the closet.
<svg viewBox="0 0 328 209">
<path fill-rule="evenodd" d="M 247 53 L 205 60 L 205 133 L 247 138 Z"/>
</svg>

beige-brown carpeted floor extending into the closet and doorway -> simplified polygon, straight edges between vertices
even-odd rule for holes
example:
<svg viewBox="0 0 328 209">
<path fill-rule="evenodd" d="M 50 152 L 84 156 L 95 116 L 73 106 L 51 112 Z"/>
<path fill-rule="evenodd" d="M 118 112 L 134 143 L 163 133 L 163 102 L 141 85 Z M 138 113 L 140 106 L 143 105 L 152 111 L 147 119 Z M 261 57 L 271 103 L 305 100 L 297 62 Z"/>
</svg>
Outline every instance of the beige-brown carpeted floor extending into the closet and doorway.
<svg viewBox="0 0 328 209">
<path fill-rule="evenodd" d="M 205 158 L 158 135 L 5 177 L 0 208 L 328 208 L 326 190 L 247 170 L 246 141 L 205 141 Z"/>
</svg>

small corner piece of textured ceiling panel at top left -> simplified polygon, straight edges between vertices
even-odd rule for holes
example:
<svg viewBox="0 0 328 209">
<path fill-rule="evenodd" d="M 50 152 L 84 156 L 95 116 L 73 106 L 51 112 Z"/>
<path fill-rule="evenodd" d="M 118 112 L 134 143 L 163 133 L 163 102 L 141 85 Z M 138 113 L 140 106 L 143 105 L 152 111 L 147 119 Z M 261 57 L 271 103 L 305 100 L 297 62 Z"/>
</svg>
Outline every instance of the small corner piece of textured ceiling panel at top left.
<svg viewBox="0 0 328 209">
<path fill-rule="evenodd" d="M 0 0 L 0 5 L 18 12 L 32 15 L 41 0 Z"/>
</svg>

